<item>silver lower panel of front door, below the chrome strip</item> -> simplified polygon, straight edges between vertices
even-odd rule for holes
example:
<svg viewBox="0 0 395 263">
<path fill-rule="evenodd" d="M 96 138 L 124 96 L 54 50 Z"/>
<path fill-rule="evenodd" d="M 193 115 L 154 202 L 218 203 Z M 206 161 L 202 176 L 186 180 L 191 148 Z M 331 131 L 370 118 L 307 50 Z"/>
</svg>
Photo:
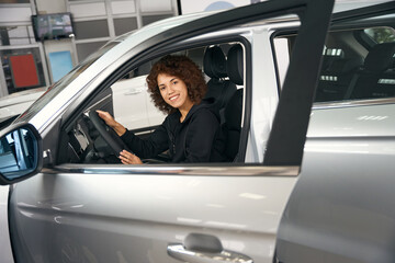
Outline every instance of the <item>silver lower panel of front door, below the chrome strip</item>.
<svg viewBox="0 0 395 263">
<path fill-rule="evenodd" d="M 213 235 L 228 250 L 270 262 L 282 206 L 296 180 L 289 175 L 297 172 L 273 169 L 267 173 L 280 176 L 250 178 L 177 175 L 176 171 L 167 176 L 133 174 L 134 169 L 123 169 L 131 174 L 119 175 L 119 168 L 112 174 L 94 170 L 101 172 L 56 172 L 15 186 L 11 217 L 33 262 L 65 256 L 74 259 L 65 262 L 78 262 L 76 256 L 97 262 L 121 258 L 178 262 L 167 255 L 167 245 L 182 243 L 192 232 Z M 204 172 L 207 169 L 200 171 Z M 29 262 L 23 253 L 16 258 Z"/>
</svg>

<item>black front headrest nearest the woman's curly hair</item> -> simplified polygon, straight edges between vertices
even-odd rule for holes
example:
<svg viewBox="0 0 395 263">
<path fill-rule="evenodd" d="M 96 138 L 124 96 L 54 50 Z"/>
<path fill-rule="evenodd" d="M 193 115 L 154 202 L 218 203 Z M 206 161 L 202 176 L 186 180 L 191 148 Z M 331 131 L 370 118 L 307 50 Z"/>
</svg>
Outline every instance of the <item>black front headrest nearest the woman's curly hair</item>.
<svg viewBox="0 0 395 263">
<path fill-rule="evenodd" d="M 221 79 L 227 76 L 226 58 L 218 46 L 207 47 L 203 58 L 204 72 L 210 78 Z"/>
</svg>

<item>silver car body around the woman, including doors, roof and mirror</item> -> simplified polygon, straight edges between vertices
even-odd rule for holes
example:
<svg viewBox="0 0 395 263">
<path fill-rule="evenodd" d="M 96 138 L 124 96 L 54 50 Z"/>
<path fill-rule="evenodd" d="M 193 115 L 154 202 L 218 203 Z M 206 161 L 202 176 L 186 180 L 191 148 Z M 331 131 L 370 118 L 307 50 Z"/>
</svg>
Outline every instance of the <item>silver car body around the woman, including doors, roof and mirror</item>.
<svg viewBox="0 0 395 263">
<path fill-rule="evenodd" d="M 0 179 L 14 183 L 4 228 L 15 262 L 391 262 L 391 245 L 380 238 L 391 241 L 395 226 L 393 198 L 386 201 L 395 155 L 393 95 L 327 98 L 346 71 L 336 75 L 328 64 L 366 58 L 375 45 L 359 38 L 361 28 L 393 28 L 394 2 L 330 20 L 331 4 L 269 1 L 166 20 L 109 43 L 49 88 L 0 133 L 4 149 L 20 152 L 15 141 L 29 149 L 20 158 L 12 159 L 11 150 L 0 156 L 12 159 L 9 167 L 2 162 Z M 115 163 L 89 113 L 114 113 L 111 87 L 143 65 L 179 53 L 205 60 L 213 46 L 227 53 L 228 67 L 227 78 L 211 81 L 235 87 L 232 98 L 242 94 L 235 162 Z M 393 59 L 384 54 L 381 59 Z M 352 83 L 365 77 L 359 66 Z M 387 73 L 375 76 L 385 80 L 376 81 L 380 87 L 392 83 Z M 321 99 L 312 112 L 317 82 Z M 232 102 L 221 108 L 225 124 Z M 146 125 L 134 132 L 149 134 Z M 364 196 L 384 186 L 385 195 Z M 361 233 L 366 222 L 372 230 Z M 359 248 L 375 253 L 366 258 Z"/>
</svg>

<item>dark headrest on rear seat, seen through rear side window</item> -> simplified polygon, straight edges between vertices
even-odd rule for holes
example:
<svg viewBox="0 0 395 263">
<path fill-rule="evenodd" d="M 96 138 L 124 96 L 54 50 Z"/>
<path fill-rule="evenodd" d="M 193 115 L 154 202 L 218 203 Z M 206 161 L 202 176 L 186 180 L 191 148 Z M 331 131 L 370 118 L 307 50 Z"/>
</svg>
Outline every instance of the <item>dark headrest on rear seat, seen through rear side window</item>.
<svg viewBox="0 0 395 263">
<path fill-rule="evenodd" d="M 395 43 L 383 43 L 372 47 L 364 60 L 364 69 L 383 72 L 395 67 Z"/>
</svg>

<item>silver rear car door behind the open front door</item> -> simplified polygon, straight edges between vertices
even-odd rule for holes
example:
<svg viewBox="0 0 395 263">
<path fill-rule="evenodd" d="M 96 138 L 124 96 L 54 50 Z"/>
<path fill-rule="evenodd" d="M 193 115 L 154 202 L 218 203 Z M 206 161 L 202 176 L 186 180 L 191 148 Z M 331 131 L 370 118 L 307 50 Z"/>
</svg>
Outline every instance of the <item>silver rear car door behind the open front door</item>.
<svg viewBox="0 0 395 263">
<path fill-rule="evenodd" d="M 343 31 L 354 25 L 387 25 L 393 30 L 394 14 L 395 2 L 391 1 L 336 13 L 332 25 Z M 383 54 L 381 58 L 387 56 L 393 59 L 395 54 Z M 374 116 L 381 104 L 391 105 L 394 100 L 365 105 L 366 112 L 357 116 Z M 349 123 L 347 127 L 353 129 Z M 380 127 L 373 136 L 354 132 L 352 138 L 342 134 L 331 137 L 329 133 L 326 139 L 318 136 L 307 144 L 304 155 L 309 161 L 303 163 L 282 215 L 275 262 L 395 261 L 394 137 L 385 133 L 385 128 L 393 127 Z M 335 128 L 339 126 L 334 124 Z M 325 147 L 320 140 L 328 145 Z"/>
</svg>

